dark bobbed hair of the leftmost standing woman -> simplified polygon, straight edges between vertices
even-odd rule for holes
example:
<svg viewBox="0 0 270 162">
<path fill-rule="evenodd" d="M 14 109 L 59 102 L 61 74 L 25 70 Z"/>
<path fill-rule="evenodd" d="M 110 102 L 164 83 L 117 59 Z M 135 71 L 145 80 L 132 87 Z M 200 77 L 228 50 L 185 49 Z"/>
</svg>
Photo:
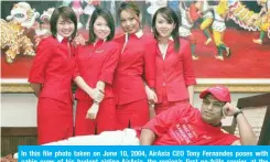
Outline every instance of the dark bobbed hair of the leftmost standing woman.
<svg viewBox="0 0 270 162">
<path fill-rule="evenodd" d="M 72 40 L 73 40 L 77 33 L 77 17 L 76 17 L 75 12 L 73 11 L 73 9 L 69 7 L 60 7 L 53 11 L 53 14 L 50 19 L 52 35 L 55 37 L 57 34 L 57 21 L 58 21 L 60 17 L 62 17 L 64 20 L 71 19 L 72 22 L 74 23 L 75 29 L 74 29 L 74 32 L 72 34 Z"/>
</svg>

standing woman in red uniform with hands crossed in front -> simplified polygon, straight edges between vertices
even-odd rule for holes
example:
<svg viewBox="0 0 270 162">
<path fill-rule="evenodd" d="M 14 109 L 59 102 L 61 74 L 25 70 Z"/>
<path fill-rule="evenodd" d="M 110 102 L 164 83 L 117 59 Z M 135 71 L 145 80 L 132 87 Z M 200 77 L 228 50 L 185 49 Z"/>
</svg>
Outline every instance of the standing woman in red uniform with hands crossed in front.
<svg viewBox="0 0 270 162">
<path fill-rule="evenodd" d="M 89 21 L 87 45 L 78 46 L 74 82 L 79 87 L 75 136 L 116 129 L 112 79 L 119 58 L 119 44 L 111 41 L 115 21 L 110 12 L 96 8 Z"/>
</svg>

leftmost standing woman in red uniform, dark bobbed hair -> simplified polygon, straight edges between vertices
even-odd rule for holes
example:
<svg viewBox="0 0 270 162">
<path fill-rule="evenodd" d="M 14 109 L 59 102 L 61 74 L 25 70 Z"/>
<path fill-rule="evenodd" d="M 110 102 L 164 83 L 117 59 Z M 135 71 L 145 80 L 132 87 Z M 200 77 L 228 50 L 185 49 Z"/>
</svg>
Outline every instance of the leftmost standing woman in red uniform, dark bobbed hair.
<svg viewBox="0 0 270 162">
<path fill-rule="evenodd" d="M 29 82 L 37 104 L 39 144 L 73 136 L 72 78 L 75 68 L 71 41 L 77 32 L 77 19 L 68 7 L 54 10 L 52 36 L 43 39 L 30 71 Z"/>
</svg>

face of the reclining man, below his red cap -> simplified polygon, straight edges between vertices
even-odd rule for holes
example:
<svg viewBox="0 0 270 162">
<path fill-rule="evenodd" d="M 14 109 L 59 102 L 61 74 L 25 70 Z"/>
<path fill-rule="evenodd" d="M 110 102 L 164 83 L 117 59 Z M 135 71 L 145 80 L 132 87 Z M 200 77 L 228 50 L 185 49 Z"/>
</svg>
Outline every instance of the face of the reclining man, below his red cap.
<svg viewBox="0 0 270 162">
<path fill-rule="evenodd" d="M 203 105 L 201 108 L 202 119 L 213 126 L 219 125 L 223 118 L 224 105 L 224 101 L 217 100 L 212 94 L 207 95 L 203 99 Z"/>
</svg>

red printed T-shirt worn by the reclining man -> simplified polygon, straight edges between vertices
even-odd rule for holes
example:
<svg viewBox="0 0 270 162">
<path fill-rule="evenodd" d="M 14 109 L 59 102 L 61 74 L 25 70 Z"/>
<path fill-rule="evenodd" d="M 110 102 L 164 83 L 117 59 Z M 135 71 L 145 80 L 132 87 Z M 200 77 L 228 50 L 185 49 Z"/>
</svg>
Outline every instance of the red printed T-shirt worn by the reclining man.
<svg viewBox="0 0 270 162">
<path fill-rule="evenodd" d="M 171 108 L 149 121 L 143 128 L 156 134 L 154 145 L 230 145 L 239 140 L 220 127 L 203 121 L 197 108 L 181 104 L 182 109 Z M 140 129 L 137 130 L 140 137 Z"/>
</svg>

